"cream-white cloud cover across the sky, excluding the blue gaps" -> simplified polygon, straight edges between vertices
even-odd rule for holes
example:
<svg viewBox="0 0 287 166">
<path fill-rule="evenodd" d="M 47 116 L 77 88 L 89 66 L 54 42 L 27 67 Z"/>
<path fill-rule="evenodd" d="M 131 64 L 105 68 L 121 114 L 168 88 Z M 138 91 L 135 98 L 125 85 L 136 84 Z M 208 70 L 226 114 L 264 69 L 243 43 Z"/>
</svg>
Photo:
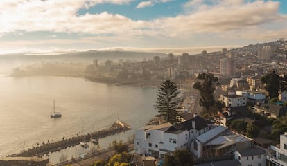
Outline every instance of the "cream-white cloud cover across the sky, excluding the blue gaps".
<svg viewBox="0 0 287 166">
<path fill-rule="evenodd" d="M 78 15 L 81 8 L 100 3 L 128 4 L 132 0 L 49 0 L 10 1 L 0 3 L 0 37 L 3 34 L 38 31 L 50 32 L 46 41 L 19 41 L 1 46 L 191 46 L 207 45 L 216 40 L 277 39 L 287 34 L 287 17 L 280 15 L 277 1 L 193 0 L 184 4 L 184 11 L 175 17 L 159 17 L 151 21 L 133 20 L 128 16 L 101 12 Z M 141 8 L 169 0 L 142 1 Z M 139 4 L 141 4 L 139 3 Z M 139 5 L 138 5 L 139 6 Z M 53 33 L 90 37 L 61 39 Z M 281 36 L 280 36 L 281 35 Z M 49 37 L 50 36 L 50 37 Z M 15 38 L 15 37 L 14 37 Z M 43 40 L 45 40 L 43 39 Z M 132 41 L 132 42 L 131 42 Z M 17 43 L 17 44 L 16 44 Z M 238 43 L 232 43 L 232 45 Z"/>
</svg>

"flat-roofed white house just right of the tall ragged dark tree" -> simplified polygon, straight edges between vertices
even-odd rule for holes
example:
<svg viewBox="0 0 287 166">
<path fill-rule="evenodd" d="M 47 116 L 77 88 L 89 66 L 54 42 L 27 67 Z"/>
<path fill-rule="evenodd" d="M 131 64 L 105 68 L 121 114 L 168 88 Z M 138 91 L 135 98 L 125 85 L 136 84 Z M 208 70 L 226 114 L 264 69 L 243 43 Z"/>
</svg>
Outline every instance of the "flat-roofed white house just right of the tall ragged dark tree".
<svg viewBox="0 0 287 166">
<path fill-rule="evenodd" d="M 246 106 L 247 98 L 240 95 L 222 95 L 222 102 L 225 107 Z"/>
</svg>

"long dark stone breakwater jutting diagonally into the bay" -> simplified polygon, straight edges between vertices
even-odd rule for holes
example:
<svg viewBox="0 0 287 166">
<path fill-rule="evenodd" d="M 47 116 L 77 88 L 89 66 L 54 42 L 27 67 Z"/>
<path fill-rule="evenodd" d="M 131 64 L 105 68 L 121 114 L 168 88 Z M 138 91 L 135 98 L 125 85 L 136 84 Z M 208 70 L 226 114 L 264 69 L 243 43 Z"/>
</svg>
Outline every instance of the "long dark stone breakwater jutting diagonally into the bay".
<svg viewBox="0 0 287 166">
<path fill-rule="evenodd" d="M 62 140 L 56 141 L 56 142 L 42 142 L 42 145 L 37 145 L 37 147 L 29 148 L 28 150 L 24 150 L 19 154 L 14 154 L 12 156 L 23 156 L 23 157 L 29 157 L 29 156 L 42 156 L 44 154 L 48 154 L 49 152 L 53 151 L 60 151 L 60 149 L 64 149 L 67 147 L 73 147 L 75 145 L 80 144 L 80 142 L 84 141 L 84 138 L 103 138 L 106 136 L 111 136 L 116 133 L 121 133 L 123 131 L 128 131 L 131 128 L 128 126 L 128 124 L 125 124 L 125 122 L 116 121 L 109 129 L 103 129 L 101 131 L 95 131 L 93 133 L 83 134 L 73 136 L 72 138 L 62 138 Z M 86 142 L 89 142 L 89 140 L 85 140 Z"/>
</svg>

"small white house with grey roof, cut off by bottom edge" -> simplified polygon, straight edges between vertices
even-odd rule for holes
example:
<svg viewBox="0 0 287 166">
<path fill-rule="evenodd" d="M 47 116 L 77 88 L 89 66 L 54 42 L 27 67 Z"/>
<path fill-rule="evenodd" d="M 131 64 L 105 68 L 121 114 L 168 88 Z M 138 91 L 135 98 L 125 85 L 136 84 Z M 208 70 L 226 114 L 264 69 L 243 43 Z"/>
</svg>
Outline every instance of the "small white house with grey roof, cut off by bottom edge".
<svg viewBox="0 0 287 166">
<path fill-rule="evenodd" d="M 266 166 L 266 152 L 263 149 L 243 149 L 234 152 L 235 160 L 243 166 Z"/>
</svg>

